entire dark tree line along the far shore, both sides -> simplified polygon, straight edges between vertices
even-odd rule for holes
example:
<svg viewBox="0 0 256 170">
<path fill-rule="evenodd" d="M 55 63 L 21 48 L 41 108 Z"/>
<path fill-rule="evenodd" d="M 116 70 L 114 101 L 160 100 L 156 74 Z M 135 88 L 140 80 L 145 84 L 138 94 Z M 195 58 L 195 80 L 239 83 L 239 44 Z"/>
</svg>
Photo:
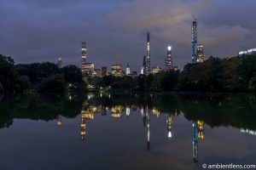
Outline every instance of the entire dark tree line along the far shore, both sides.
<svg viewBox="0 0 256 170">
<path fill-rule="evenodd" d="M 256 56 L 219 59 L 185 65 L 183 71 L 161 71 L 138 77 L 92 77 L 94 89 L 137 91 L 256 92 Z M 20 93 L 26 89 L 61 93 L 83 89 L 82 73 L 75 65 L 58 68 L 49 62 L 15 65 L 0 55 L 0 93 Z"/>
</svg>

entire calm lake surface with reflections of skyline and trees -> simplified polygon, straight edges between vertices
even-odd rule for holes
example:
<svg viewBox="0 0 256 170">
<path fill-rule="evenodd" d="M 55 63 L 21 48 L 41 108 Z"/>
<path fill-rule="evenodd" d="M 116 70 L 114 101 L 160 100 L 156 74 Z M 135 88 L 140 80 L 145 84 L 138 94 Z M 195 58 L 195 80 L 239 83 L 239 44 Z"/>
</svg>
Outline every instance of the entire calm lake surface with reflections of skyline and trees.
<svg viewBox="0 0 256 170">
<path fill-rule="evenodd" d="M 255 95 L 0 98 L 0 170 L 256 163 Z"/>
</svg>

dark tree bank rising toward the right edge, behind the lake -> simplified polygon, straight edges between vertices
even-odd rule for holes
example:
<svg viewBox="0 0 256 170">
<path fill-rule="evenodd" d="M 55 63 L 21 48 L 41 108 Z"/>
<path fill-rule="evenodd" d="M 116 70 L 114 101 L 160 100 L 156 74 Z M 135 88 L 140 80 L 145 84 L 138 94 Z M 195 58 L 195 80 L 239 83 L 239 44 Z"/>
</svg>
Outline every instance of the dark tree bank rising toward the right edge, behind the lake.
<svg viewBox="0 0 256 170">
<path fill-rule="evenodd" d="M 256 56 L 219 59 L 185 65 L 183 71 L 161 71 L 148 76 L 93 78 L 96 88 L 141 91 L 256 92 Z"/>
</svg>

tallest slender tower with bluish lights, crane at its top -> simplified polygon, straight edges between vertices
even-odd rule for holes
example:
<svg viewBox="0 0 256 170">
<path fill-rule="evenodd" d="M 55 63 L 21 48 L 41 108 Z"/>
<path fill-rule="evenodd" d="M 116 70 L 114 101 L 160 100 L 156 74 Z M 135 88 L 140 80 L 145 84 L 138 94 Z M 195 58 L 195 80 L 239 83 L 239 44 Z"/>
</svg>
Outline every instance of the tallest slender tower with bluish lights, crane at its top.
<svg viewBox="0 0 256 170">
<path fill-rule="evenodd" d="M 194 17 L 195 18 L 195 17 Z M 192 64 L 197 62 L 197 20 L 192 22 Z"/>
</svg>

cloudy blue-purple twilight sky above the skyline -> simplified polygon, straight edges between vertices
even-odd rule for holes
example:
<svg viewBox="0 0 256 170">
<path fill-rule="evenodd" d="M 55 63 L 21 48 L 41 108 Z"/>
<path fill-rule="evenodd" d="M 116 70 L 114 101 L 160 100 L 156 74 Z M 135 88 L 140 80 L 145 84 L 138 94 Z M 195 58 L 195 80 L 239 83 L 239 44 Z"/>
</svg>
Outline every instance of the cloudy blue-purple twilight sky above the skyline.
<svg viewBox="0 0 256 170">
<path fill-rule="evenodd" d="M 256 48 L 255 0 L 0 0 L 0 54 L 16 63 L 79 65 L 81 42 L 97 68 L 113 63 L 139 71 L 151 32 L 151 65 L 191 62 L 192 14 L 205 58 Z"/>
</svg>

